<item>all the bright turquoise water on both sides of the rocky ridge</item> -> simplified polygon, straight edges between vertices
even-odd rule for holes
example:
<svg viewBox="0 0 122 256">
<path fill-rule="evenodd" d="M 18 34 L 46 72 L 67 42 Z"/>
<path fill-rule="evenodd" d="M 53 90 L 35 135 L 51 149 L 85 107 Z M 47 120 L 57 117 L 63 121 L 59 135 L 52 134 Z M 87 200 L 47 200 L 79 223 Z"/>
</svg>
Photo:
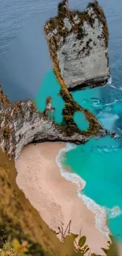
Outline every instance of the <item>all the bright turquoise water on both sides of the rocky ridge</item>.
<svg viewBox="0 0 122 256">
<path fill-rule="evenodd" d="M 121 132 L 120 115 L 122 113 L 121 98 L 112 101 L 105 97 L 105 90 L 110 89 L 112 82 L 106 87 L 86 89 L 72 92 L 72 97 L 83 108 L 94 113 L 98 121 L 107 129 Z M 54 118 L 58 124 L 62 122 L 62 110 L 65 102 L 59 95 L 60 84 L 54 72 L 50 71 L 43 79 L 39 93 L 35 98 L 36 106 L 40 112 L 46 108 L 46 98 L 52 97 L 54 116 L 49 113 L 49 118 Z M 87 130 L 89 122 L 83 113 L 76 112 L 74 121 L 79 129 Z M 107 209 L 119 206 L 122 210 L 122 139 L 112 139 L 109 135 L 100 139 L 91 139 L 83 145 L 77 146 L 66 153 L 63 165 L 69 165 L 72 172 L 78 174 L 86 181 L 83 194 L 91 198 L 100 206 L 106 208 L 110 231 L 118 241 L 122 241 L 122 214 L 110 219 Z M 118 227 L 119 225 L 119 227 Z"/>
</svg>

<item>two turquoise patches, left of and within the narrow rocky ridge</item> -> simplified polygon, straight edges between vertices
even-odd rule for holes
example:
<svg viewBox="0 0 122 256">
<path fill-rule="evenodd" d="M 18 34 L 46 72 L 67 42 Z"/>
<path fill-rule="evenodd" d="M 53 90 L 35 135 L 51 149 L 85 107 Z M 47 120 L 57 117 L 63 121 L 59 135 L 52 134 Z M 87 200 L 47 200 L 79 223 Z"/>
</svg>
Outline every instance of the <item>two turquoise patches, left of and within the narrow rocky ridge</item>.
<svg viewBox="0 0 122 256">
<path fill-rule="evenodd" d="M 60 84 L 57 82 L 56 77 L 54 76 L 54 71 L 51 70 L 47 72 L 46 76 L 43 79 L 43 83 L 41 84 L 38 95 L 35 98 L 35 104 L 39 112 L 43 113 L 46 109 L 46 98 L 52 97 L 53 107 L 54 107 L 54 116 L 50 112 L 49 118 L 53 119 L 57 124 L 61 124 L 63 121 L 62 111 L 65 106 L 64 100 L 59 95 L 60 93 Z M 75 113 L 74 121 L 76 122 L 79 129 L 82 131 L 86 131 L 89 128 L 89 123 L 85 118 L 83 113 Z"/>
</svg>

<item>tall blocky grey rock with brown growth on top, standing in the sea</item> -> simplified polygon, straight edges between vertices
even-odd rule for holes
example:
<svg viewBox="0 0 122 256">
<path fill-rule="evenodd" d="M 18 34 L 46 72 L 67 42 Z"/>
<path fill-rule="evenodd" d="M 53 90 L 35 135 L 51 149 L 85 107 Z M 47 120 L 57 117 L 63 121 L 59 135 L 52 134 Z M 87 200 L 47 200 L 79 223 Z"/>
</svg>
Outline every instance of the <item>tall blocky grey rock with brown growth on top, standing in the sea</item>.
<svg viewBox="0 0 122 256">
<path fill-rule="evenodd" d="M 58 6 L 57 17 L 45 24 L 46 41 L 59 76 L 69 90 L 103 85 L 109 79 L 109 32 L 98 2 L 83 13 L 68 10 L 68 0 Z"/>
</svg>

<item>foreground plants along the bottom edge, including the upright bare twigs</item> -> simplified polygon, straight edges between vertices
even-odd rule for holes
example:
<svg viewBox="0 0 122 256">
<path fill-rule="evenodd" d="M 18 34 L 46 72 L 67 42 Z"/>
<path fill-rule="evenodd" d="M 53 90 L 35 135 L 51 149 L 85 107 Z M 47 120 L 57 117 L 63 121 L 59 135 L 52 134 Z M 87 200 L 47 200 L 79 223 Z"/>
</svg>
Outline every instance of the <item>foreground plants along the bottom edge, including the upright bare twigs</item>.
<svg viewBox="0 0 122 256">
<path fill-rule="evenodd" d="M 85 256 L 86 254 L 89 256 L 102 256 L 91 253 L 90 247 L 87 245 L 86 236 L 81 236 L 81 229 L 78 234 L 73 234 L 71 232 L 71 221 L 69 221 L 66 228 L 64 228 L 64 224 L 61 222 L 61 228 L 58 227 L 58 232 L 55 232 L 56 235 L 61 236 L 61 247 L 59 247 L 59 256 Z M 31 243 L 28 243 L 27 240 L 23 240 L 22 243 L 18 241 L 18 239 L 13 239 L 11 242 L 5 242 L 5 233 L 0 232 L 0 256 L 50 256 L 50 253 L 43 253 L 36 250 L 31 251 Z M 2 242 L 5 243 L 2 243 Z M 109 235 L 108 247 L 102 248 L 102 251 L 107 256 L 118 256 L 118 251 L 116 247 L 116 243 L 113 240 L 113 236 Z M 52 254 L 51 254 L 52 255 Z"/>
</svg>

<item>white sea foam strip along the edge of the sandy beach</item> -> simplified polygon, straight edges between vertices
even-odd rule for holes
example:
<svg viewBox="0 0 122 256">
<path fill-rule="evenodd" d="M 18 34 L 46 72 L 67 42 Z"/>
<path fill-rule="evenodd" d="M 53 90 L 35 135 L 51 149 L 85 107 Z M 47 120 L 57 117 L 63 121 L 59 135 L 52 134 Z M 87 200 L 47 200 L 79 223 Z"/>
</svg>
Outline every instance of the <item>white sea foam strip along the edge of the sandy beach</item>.
<svg viewBox="0 0 122 256">
<path fill-rule="evenodd" d="M 114 218 L 119 216 L 122 212 L 118 206 L 114 206 L 113 209 L 108 209 L 106 207 L 99 206 L 96 202 L 94 202 L 94 200 L 88 198 L 86 195 L 83 195 L 82 190 L 86 186 L 85 180 L 81 179 L 81 177 L 79 177 L 76 173 L 69 173 L 66 171 L 64 165 L 62 164 L 62 158 L 65 158 L 65 154 L 75 148 L 76 144 L 67 143 L 66 147 L 61 149 L 59 154 L 57 154 L 56 162 L 61 169 L 61 176 L 77 185 L 77 195 L 83 200 L 87 208 L 94 213 L 96 228 L 98 228 L 98 230 L 102 232 L 107 239 L 109 239 L 109 228 L 107 226 L 106 214 L 109 215 L 109 218 Z"/>
</svg>

